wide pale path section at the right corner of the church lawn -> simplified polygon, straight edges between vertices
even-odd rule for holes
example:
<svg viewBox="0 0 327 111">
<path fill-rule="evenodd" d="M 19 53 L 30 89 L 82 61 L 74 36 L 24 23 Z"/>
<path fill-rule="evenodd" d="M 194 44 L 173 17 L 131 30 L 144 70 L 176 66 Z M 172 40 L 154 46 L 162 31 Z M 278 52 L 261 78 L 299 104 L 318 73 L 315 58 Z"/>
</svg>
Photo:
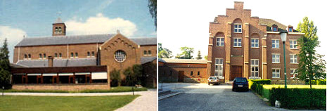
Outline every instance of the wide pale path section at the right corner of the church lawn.
<svg viewBox="0 0 327 111">
<path fill-rule="evenodd" d="M 142 96 L 133 100 L 132 103 L 120 107 L 116 111 L 156 111 L 157 103 L 157 89 L 148 89 L 146 93 L 143 93 Z"/>
</svg>

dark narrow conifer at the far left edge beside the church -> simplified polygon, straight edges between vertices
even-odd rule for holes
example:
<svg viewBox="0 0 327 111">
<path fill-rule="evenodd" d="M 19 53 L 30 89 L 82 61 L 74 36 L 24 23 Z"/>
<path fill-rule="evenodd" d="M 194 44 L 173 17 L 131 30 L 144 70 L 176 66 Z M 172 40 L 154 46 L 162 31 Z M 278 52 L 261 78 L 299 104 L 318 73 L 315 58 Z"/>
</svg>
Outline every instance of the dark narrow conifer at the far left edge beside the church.
<svg viewBox="0 0 327 111">
<path fill-rule="evenodd" d="M 11 83 L 11 66 L 9 62 L 9 51 L 7 39 L 4 40 L 4 45 L 0 49 L 0 85 L 9 86 Z"/>
</svg>

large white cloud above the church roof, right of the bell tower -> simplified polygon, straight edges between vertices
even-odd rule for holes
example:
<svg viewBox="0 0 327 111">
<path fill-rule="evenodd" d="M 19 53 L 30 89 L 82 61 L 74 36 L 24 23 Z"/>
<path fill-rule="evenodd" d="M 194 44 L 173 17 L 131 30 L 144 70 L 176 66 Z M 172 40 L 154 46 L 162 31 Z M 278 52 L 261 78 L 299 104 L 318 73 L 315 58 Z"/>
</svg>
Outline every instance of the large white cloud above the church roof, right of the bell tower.
<svg viewBox="0 0 327 111">
<path fill-rule="evenodd" d="M 85 22 L 73 18 L 65 24 L 70 34 L 115 34 L 120 30 L 120 33 L 130 37 L 137 31 L 133 22 L 122 18 L 107 18 L 102 13 L 88 18 Z"/>
</svg>

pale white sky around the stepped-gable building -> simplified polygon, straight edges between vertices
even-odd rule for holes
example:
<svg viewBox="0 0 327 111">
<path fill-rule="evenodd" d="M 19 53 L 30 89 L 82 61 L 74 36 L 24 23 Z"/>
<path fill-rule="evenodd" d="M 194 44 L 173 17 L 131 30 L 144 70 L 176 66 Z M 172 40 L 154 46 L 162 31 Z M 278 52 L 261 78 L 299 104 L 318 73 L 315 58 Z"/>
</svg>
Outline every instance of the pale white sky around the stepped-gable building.
<svg viewBox="0 0 327 111">
<path fill-rule="evenodd" d="M 313 20 L 318 28 L 321 47 L 319 54 L 327 55 L 326 26 L 327 1 L 244 1 L 244 8 L 251 9 L 252 16 L 270 18 L 283 25 L 293 25 L 302 21 L 304 16 Z M 217 15 L 225 15 L 226 8 L 233 8 L 234 1 L 158 1 L 158 43 L 168 48 L 173 55 L 181 53 L 180 47 L 194 48 L 193 58 L 200 50 L 207 55 L 209 42 L 209 22 Z M 327 60 L 324 57 L 324 60 Z"/>
</svg>

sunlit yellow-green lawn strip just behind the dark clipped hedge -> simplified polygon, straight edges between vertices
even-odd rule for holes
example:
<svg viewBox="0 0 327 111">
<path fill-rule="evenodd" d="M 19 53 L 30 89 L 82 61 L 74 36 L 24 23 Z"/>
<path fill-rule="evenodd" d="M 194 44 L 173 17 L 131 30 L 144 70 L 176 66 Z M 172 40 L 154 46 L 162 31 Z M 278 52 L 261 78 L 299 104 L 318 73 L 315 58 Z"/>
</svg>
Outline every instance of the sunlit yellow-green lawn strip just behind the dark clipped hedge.
<svg viewBox="0 0 327 111">
<path fill-rule="evenodd" d="M 262 96 L 264 98 L 269 99 L 269 90 L 271 88 L 284 88 L 285 85 L 281 85 L 281 84 L 271 84 L 271 85 L 264 85 L 263 86 L 263 94 Z M 309 89 L 310 85 L 287 85 L 287 88 L 298 88 L 298 89 Z M 313 89 L 326 89 L 326 85 L 312 85 Z"/>
</svg>

